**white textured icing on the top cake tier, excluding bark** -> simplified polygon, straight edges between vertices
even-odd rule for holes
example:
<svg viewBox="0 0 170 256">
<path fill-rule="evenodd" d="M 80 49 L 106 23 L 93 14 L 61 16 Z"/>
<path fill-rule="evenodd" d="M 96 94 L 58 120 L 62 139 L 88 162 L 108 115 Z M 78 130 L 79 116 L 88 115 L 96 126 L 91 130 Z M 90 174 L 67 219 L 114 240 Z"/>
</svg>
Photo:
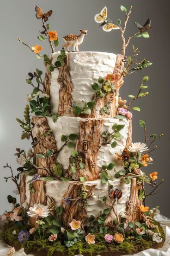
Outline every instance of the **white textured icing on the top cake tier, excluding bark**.
<svg viewBox="0 0 170 256">
<path fill-rule="evenodd" d="M 92 100 L 94 90 L 92 90 L 91 84 L 97 82 L 99 76 L 105 77 L 108 73 L 113 73 L 116 61 L 116 55 L 113 53 L 95 51 L 82 53 L 86 54 L 88 58 L 85 63 L 74 62 L 77 52 L 67 53 L 69 56 L 70 77 L 73 83 L 72 99 L 75 105 Z M 52 64 L 55 64 L 59 54 L 61 53 L 55 52 L 51 54 Z M 51 72 L 50 105 L 52 113 L 55 114 L 58 111 L 59 103 L 60 84 L 57 82 L 58 74 L 58 69 Z"/>
</svg>

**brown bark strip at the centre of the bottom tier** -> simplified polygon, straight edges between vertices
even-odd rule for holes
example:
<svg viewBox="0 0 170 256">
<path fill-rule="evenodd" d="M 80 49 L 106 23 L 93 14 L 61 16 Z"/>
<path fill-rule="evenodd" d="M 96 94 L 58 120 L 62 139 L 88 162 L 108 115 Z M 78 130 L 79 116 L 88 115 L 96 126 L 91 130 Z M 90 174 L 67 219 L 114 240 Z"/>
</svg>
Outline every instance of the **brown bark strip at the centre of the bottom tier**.
<svg viewBox="0 0 170 256">
<path fill-rule="evenodd" d="M 61 206 L 64 207 L 63 213 L 63 226 L 65 228 L 70 228 L 69 223 L 72 222 L 73 219 L 79 220 L 81 222 L 81 229 L 85 226 L 85 221 L 87 218 L 87 212 L 84 208 L 84 199 L 80 198 L 77 194 L 79 190 L 81 190 L 82 183 L 73 182 L 69 185 L 67 192 L 64 194 L 63 199 L 61 201 Z M 86 186 L 87 190 L 89 190 L 87 194 L 87 199 L 91 197 L 93 190 L 95 189 L 96 184 Z M 66 204 L 64 198 L 72 197 L 76 199 L 74 201 L 70 201 L 70 204 Z"/>
</svg>

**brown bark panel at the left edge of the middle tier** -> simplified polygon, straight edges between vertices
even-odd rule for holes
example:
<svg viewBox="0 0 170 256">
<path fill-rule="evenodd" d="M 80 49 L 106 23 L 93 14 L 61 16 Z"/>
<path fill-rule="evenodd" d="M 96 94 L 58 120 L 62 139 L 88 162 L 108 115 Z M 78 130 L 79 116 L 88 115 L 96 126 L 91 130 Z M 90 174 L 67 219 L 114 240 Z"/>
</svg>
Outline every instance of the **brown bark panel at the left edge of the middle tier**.
<svg viewBox="0 0 170 256">
<path fill-rule="evenodd" d="M 37 173 L 41 176 L 49 176 L 53 175 L 53 164 L 56 164 L 55 154 L 57 152 L 56 141 L 54 135 L 51 133 L 48 136 L 41 136 L 42 134 L 48 132 L 50 130 L 47 119 L 43 116 L 32 117 L 32 121 L 35 126 L 33 128 L 33 137 L 37 138 L 38 144 L 34 147 L 34 156 L 39 153 L 46 153 L 47 149 L 53 149 L 54 154 L 48 159 L 36 158 L 36 166 L 47 168 L 49 171 L 43 169 L 38 169 Z"/>
</svg>

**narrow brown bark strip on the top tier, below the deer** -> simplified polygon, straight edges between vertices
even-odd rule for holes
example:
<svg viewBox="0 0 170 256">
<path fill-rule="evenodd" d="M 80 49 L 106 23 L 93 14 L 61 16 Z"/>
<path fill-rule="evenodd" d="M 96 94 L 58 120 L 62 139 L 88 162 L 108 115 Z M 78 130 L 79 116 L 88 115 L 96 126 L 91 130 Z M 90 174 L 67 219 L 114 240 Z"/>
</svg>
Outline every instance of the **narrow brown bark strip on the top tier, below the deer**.
<svg viewBox="0 0 170 256">
<path fill-rule="evenodd" d="M 60 67 L 57 81 L 61 85 L 59 90 L 58 115 L 63 116 L 69 114 L 73 116 L 73 108 L 71 108 L 73 84 L 70 79 L 68 55 L 65 58 L 65 65 Z"/>
</svg>

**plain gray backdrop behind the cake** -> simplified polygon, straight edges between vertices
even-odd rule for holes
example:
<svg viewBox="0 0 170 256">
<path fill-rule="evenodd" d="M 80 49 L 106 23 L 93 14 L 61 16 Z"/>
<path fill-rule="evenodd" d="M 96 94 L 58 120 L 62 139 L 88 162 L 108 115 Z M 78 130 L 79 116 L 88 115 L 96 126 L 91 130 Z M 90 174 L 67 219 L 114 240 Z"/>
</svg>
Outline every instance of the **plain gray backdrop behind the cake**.
<svg viewBox="0 0 170 256">
<path fill-rule="evenodd" d="M 131 44 L 140 48 L 139 60 L 147 58 L 153 63 L 145 70 L 136 72 L 125 78 L 120 94 L 128 100 L 129 94 L 136 94 L 143 76 L 148 75 L 150 95 L 141 98 L 134 103 L 139 106 L 141 112 L 134 111 L 133 141 L 144 141 L 139 120 L 146 121 L 148 134 L 164 133 L 165 136 L 158 141 L 158 149 L 155 150 L 154 164 L 143 171 L 146 173 L 158 171 L 159 179 L 165 179 L 164 184 L 158 189 L 158 195 L 148 197 L 146 204 L 150 207 L 160 205 L 161 212 L 170 217 L 169 187 L 169 41 L 170 41 L 170 15 L 169 0 L 4 0 L 1 1 L 0 14 L 0 212 L 10 210 L 7 195 L 15 189 L 12 181 L 7 184 L 3 179 L 8 176 L 9 170 L 2 166 L 8 162 L 17 173 L 18 165 L 15 163 L 15 148 L 27 150 L 30 141 L 20 140 L 22 129 L 15 118 L 23 117 L 25 96 L 32 88 L 26 84 L 27 73 L 37 68 L 44 70 L 42 61 L 34 58 L 34 54 L 24 45 L 18 42 L 21 38 L 30 46 L 39 44 L 43 46 L 43 53 L 49 53 L 48 42 L 40 42 L 37 39 L 41 29 L 41 21 L 35 18 L 35 6 L 39 5 L 48 11 L 53 10 L 49 20 L 51 30 L 57 30 L 61 44 L 62 36 L 68 33 L 79 33 L 79 29 L 88 29 L 84 43 L 80 45 L 80 51 L 106 51 L 121 53 L 121 38 L 119 31 L 109 33 L 95 23 L 94 15 L 99 13 L 104 6 L 108 8 L 108 18 L 116 22 L 116 19 L 124 19 L 124 14 L 119 6 L 133 5 L 133 13 L 129 20 L 126 35 L 136 31 L 133 21 L 144 24 L 151 17 L 153 28 L 150 30 L 150 38 L 134 38 Z M 129 45 L 127 54 L 131 53 Z M 130 98 L 129 98 L 130 99 Z M 151 190 L 147 186 L 148 191 Z"/>
</svg>

